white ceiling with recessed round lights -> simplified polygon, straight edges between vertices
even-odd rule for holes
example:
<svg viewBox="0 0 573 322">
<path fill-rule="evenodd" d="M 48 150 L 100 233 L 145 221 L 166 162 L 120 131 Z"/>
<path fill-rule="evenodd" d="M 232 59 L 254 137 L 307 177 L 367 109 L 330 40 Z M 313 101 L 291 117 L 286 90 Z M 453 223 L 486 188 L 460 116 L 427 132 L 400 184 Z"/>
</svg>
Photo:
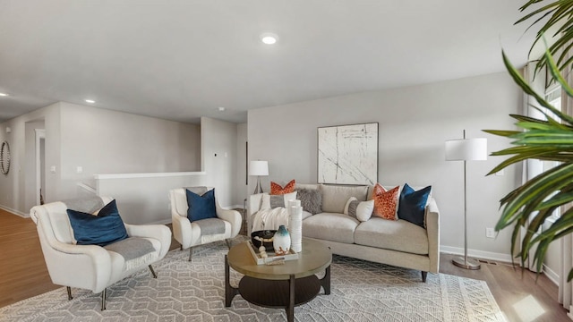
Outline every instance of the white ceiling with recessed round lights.
<svg viewBox="0 0 573 322">
<path fill-rule="evenodd" d="M 0 0 L 0 122 L 91 98 L 242 123 L 252 108 L 501 72 L 502 47 L 526 63 L 525 2 Z"/>
</svg>

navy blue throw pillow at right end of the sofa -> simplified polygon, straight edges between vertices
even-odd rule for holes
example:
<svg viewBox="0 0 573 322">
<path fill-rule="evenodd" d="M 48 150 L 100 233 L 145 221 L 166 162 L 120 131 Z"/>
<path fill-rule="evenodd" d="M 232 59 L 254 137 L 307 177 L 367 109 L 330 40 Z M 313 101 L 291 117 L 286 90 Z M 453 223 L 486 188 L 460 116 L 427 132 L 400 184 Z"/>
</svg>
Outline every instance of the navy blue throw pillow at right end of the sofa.
<svg viewBox="0 0 573 322">
<path fill-rule="evenodd" d="M 432 191 L 432 186 L 415 191 L 406 183 L 404 188 L 402 188 L 402 192 L 400 192 L 398 218 L 425 228 L 423 220 L 430 191 Z"/>
</svg>

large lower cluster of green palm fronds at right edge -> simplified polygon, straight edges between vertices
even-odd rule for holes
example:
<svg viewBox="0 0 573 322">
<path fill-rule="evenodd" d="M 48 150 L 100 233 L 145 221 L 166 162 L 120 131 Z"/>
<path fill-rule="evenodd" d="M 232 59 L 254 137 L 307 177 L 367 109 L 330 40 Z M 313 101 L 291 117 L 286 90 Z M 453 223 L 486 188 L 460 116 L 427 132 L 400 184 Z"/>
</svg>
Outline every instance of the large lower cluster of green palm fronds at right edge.
<svg viewBox="0 0 573 322">
<path fill-rule="evenodd" d="M 561 76 L 549 49 L 543 60 L 551 71 L 552 79 L 560 84 L 561 89 L 569 97 L 573 97 L 573 89 Z M 520 237 L 520 228 L 525 227 L 526 233 L 521 236 L 521 250 L 516 257 L 521 258 L 522 263 L 525 262 L 529 251 L 537 245 L 533 262 L 540 271 L 549 245 L 560 237 L 573 233 L 573 208 L 566 210 L 548 229 L 540 232 L 541 226 L 549 216 L 552 216 L 556 208 L 573 201 L 573 117 L 562 113 L 531 89 L 521 74 L 509 63 L 505 53 L 503 62 L 517 85 L 528 95 L 535 97 L 539 105 L 544 107 L 544 109 L 535 108 L 544 114 L 546 120 L 511 114 L 510 116 L 517 120 L 517 127 L 523 131 L 484 130 L 508 137 L 513 140 L 511 144 L 514 145 L 492 153 L 492 156 L 513 157 L 501 162 L 488 175 L 529 158 L 560 162 L 559 165 L 535 176 L 501 199 L 500 205 L 503 209 L 495 227 L 496 231 L 500 231 L 514 225 L 511 250 L 515 250 Z M 571 278 L 573 270 L 568 275 L 568 280 Z"/>
</svg>

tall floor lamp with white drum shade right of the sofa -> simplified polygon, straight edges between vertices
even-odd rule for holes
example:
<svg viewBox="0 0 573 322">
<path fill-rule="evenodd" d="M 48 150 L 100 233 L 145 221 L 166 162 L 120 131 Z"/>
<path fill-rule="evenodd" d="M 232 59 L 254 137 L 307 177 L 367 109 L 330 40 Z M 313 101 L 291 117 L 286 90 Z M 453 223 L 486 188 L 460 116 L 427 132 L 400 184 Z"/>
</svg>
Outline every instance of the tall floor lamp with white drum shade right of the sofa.
<svg viewBox="0 0 573 322">
<path fill-rule="evenodd" d="M 480 269 L 480 263 L 467 259 L 467 184 L 466 161 L 487 159 L 487 139 L 466 139 L 466 130 L 462 140 L 446 141 L 446 161 L 464 161 L 464 257 L 452 259 L 457 267 L 466 269 Z"/>
</svg>

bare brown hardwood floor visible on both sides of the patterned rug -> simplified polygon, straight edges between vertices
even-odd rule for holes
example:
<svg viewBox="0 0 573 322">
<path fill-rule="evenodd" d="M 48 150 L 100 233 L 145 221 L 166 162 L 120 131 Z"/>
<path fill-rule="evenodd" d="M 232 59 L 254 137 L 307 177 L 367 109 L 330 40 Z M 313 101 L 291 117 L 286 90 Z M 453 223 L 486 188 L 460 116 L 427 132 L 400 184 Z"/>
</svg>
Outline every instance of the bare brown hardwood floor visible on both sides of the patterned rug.
<svg viewBox="0 0 573 322">
<path fill-rule="evenodd" d="M 0 307 L 60 286 L 51 283 L 39 246 L 36 225 L 0 209 Z M 171 249 L 179 247 L 173 240 Z M 451 264 L 452 255 L 441 254 L 440 273 L 485 281 L 509 321 L 570 321 L 557 302 L 557 286 L 540 275 L 514 270 L 509 264 L 482 263 L 480 270 L 466 270 Z"/>
</svg>

